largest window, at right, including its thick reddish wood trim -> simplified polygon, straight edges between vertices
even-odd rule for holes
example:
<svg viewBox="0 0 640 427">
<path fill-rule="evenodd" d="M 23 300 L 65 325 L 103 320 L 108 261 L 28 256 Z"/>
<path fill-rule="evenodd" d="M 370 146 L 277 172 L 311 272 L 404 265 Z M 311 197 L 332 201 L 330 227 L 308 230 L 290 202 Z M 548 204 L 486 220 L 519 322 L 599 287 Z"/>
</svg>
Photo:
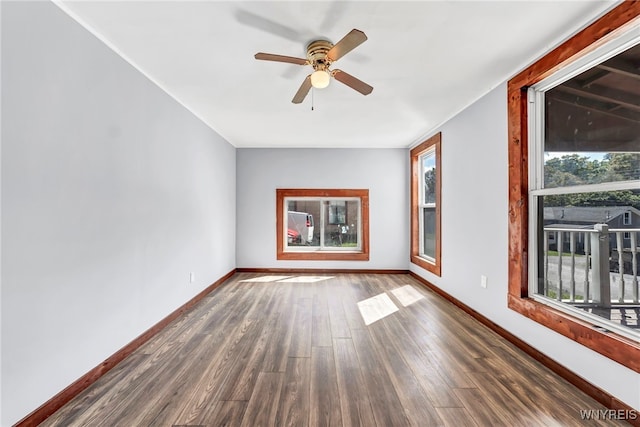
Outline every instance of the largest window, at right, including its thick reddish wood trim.
<svg viewBox="0 0 640 427">
<path fill-rule="evenodd" d="M 508 87 L 509 307 L 636 372 L 639 14 L 621 4 Z"/>
</svg>

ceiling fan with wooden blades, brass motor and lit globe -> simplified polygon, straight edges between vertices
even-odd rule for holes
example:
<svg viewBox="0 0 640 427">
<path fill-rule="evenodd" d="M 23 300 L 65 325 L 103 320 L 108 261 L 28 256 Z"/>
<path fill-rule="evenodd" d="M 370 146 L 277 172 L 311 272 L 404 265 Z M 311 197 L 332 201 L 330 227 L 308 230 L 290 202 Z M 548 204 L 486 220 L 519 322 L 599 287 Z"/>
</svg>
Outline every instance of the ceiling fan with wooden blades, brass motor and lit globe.
<svg viewBox="0 0 640 427">
<path fill-rule="evenodd" d="M 294 104 L 300 104 L 312 86 L 317 89 L 327 87 L 331 77 L 363 95 L 369 95 L 373 87 L 342 70 L 329 68 L 333 62 L 360 46 L 365 40 L 367 40 L 367 36 L 362 31 L 353 29 L 336 44 L 328 40 L 312 41 L 307 46 L 307 59 L 263 52 L 256 53 L 255 58 L 263 61 L 287 62 L 313 67 L 313 72 L 304 79 L 300 89 L 291 100 Z"/>
</svg>

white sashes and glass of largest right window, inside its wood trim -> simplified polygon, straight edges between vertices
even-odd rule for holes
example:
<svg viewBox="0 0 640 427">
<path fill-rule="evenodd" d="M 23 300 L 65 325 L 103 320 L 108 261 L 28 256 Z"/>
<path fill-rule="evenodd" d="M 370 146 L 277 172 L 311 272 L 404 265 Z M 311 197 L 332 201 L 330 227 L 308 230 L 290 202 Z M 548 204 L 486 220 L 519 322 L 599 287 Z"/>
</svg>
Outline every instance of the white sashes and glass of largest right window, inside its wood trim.
<svg viewBox="0 0 640 427">
<path fill-rule="evenodd" d="M 640 32 L 618 37 L 530 87 L 528 121 L 530 295 L 632 338 L 638 271 L 616 255 L 637 255 L 620 227 L 640 213 L 638 62 Z"/>
</svg>

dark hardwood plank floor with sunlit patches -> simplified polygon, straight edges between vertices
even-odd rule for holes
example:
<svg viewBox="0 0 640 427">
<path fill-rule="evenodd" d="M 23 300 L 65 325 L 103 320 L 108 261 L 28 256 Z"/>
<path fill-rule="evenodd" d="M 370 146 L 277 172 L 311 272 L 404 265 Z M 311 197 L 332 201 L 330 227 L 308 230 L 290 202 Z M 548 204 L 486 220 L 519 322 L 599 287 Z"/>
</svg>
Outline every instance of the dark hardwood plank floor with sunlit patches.
<svg viewBox="0 0 640 427">
<path fill-rule="evenodd" d="M 41 425 L 627 425 L 581 419 L 605 408 L 409 275 L 242 281 L 262 276 L 234 275 Z M 380 294 L 397 311 L 366 325 L 358 302 Z"/>
</svg>

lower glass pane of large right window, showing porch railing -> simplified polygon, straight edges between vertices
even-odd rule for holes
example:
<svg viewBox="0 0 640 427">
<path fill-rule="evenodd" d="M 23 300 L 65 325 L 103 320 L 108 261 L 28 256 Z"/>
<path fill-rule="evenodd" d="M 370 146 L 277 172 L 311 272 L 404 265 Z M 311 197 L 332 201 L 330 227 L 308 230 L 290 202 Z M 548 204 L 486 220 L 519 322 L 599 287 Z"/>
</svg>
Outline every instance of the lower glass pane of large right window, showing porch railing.
<svg viewBox="0 0 640 427">
<path fill-rule="evenodd" d="M 539 266 L 534 293 L 606 319 L 611 310 L 594 311 L 591 308 L 634 303 L 637 270 L 634 273 L 632 267 L 633 249 L 625 241 L 630 240 L 631 232 L 619 228 L 629 207 L 611 203 L 629 198 L 640 201 L 640 189 L 538 197 L 541 232 L 538 233 Z M 640 214 L 640 210 L 636 212 Z M 597 224 L 606 225 L 606 230 L 598 231 Z M 640 234 L 639 231 L 633 233 Z M 605 242 L 603 248 L 596 252 L 594 246 L 601 242 Z M 618 254 L 623 258 L 621 276 L 615 275 L 621 271 Z M 606 258 L 606 269 L 597 277 L 593 263 L 600 257 Z M 599 286 L 606 286 L 602 293 L 609 295 L 608 301 L 599 298 Z"/>
</svg>

